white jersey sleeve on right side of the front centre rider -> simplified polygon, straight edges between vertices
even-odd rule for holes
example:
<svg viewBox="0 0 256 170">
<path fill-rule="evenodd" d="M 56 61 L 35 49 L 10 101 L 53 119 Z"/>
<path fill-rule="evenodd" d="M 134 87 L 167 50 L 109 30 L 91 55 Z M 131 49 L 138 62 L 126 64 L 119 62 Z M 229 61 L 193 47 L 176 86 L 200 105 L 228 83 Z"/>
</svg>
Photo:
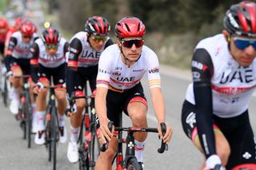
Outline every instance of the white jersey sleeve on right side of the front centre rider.
<svg viewBox="0 0 256 170">
<path fill-rule="evenodd" d="M 150 50 L 150 56 L 147 56 L 147 77 L 150 89 L 154 87 L 161 88 L 161 77 L 159 73 L 158 56 Z"/>
</svg>

